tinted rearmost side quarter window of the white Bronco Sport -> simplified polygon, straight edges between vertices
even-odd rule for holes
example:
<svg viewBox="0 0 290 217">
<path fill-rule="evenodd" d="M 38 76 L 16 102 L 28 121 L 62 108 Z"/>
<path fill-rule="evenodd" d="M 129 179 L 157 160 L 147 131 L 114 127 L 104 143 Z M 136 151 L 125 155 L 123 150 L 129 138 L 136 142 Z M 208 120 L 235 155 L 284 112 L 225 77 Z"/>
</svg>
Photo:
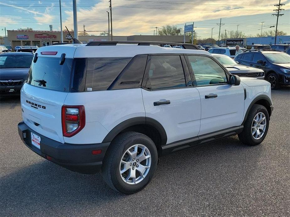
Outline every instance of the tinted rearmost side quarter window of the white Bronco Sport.
<svg viewBox="0 0 290 217">
<path fill-rule="evenodd" d="M 106 90 L 131 59 L 129 57 L 89 58 L 85 91 Z"/>
</svg>

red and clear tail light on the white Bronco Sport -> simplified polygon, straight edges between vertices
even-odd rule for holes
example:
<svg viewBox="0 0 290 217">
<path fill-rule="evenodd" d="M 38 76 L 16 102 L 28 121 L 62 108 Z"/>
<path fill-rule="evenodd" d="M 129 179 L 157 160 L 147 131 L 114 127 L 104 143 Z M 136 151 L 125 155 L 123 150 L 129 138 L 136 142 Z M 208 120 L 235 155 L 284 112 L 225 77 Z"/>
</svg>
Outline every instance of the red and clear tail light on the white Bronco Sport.
<svg viewBox="0 0 290 217">
<path fill-rule="evenodd" d="M 83 105 L 63 105 L 61 108 L 61 122 L 63 136 L 74 136 L 85 127 L 85 107 Z"/>
</svg>

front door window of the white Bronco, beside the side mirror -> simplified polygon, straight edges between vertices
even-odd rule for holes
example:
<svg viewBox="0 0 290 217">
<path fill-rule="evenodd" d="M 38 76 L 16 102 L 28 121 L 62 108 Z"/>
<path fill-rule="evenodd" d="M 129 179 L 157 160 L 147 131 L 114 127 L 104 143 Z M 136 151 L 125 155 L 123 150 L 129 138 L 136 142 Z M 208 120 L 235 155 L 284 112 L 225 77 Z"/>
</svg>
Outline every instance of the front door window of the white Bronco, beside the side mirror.
<svg viewBox="0 0 290 217">
<path fill-rule="evenodd" d="M 188 56 L 188 59 L 198 86 L 227 83 L 224 69 L 213 59 L 204 56 Z"/>
</svg>

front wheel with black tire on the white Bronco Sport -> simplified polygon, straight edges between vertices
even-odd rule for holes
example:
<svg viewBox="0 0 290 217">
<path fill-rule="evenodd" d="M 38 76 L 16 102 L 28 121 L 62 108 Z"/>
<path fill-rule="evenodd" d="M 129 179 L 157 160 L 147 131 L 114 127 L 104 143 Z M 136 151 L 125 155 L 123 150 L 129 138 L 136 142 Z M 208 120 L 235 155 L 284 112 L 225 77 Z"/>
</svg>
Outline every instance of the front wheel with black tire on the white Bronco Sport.
<svg viewBox="0 0 290 217">
<path fill-rule="evenodd" d="M 262 105 L 254 104 L 250 109 L 243 131 L 238 134 L 240 141 L 247 145 L 258 145 L 266 137 L 269 128 L 269 114 Z"/>
</svg>

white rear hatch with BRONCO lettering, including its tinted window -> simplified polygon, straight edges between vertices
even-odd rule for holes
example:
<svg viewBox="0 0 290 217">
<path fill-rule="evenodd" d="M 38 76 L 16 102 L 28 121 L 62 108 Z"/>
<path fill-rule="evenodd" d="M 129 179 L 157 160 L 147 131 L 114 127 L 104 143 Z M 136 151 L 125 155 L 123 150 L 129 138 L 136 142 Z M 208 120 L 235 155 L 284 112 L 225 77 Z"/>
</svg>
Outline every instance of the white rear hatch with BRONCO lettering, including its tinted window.
<svg viewBox="0 0 290 217">
<path fill-rule="evenodd" d="M 22 118 L 38 134 L 64 143 L 61 108 L 70 91 L 73 46 L 48 46 L 37 50 L 27 83 L 21 90 Z M 50 52 L 50 53 L 47 53 Z M 65 61 L 61 65 L 61 54 Z"/>
</svg>

